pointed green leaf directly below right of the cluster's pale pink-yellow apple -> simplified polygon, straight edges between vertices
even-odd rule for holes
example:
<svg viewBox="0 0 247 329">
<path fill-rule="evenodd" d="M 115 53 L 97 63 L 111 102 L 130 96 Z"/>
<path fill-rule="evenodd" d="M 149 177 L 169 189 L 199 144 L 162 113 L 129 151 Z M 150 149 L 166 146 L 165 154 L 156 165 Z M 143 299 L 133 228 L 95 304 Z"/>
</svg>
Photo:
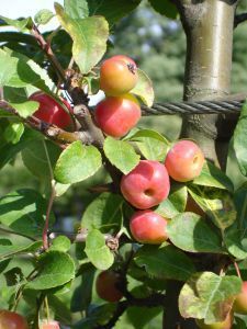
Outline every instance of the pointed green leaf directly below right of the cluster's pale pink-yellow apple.
<svg viewBox="0 0 247 329">
<path fill-rule="evenodd" d="M 231 179 L 210 161 L 204 162 L 201 174 L 193 180 L 192 184 L 234 191 Z"/>
</svg>

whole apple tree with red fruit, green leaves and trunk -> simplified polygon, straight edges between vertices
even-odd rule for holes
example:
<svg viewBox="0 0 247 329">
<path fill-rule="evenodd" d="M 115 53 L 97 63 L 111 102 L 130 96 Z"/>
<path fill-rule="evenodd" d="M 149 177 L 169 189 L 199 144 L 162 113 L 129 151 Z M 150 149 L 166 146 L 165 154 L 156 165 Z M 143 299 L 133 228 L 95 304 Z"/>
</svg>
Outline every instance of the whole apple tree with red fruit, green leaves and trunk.
<svg viewBox="0 0 247 329">
<path fill-rule="evenodd" d="M 247 175 L 247 104 L 187 111 L 179 140 L 142 127 L 157 114 L 153 83 L 136 56 L 108 56 L 139 4 L 65 0 L 1 16 L 15 32 L 0 33 L 0 168 L 14 172 L 21 155 L 40 182 L 0 196 L 3 329 L 247 328 L 247 185 L 226 174 L 234 154 Z M 244 103 L 229 94 L 243 1 L 148 5 L 181 20 L 184 104 Z M 59 27 L 41 33 L 54 16 Z M 54 208 L 75 185 L 90 202 L 69 232 Z"/>
</svg>

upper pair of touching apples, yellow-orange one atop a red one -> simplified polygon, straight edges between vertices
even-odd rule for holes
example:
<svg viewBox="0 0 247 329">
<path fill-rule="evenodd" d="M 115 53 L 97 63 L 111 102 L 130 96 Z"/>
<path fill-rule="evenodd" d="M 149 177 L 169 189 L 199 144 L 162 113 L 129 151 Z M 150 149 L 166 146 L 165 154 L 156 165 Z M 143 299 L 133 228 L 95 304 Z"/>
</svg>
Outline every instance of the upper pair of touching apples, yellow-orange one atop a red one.
<svg viewBox="0 0 247 329">
<path fill-rule="evenodd" d="M 141 106 L 131 90 L 138 80 L 135 61 L 116 55 L 103 61 L 100 68 L 100 89 L 105 99 L 96 107 L 96 123 L 112 137 L 126 135 L 141 118 Z"/>
</svg>

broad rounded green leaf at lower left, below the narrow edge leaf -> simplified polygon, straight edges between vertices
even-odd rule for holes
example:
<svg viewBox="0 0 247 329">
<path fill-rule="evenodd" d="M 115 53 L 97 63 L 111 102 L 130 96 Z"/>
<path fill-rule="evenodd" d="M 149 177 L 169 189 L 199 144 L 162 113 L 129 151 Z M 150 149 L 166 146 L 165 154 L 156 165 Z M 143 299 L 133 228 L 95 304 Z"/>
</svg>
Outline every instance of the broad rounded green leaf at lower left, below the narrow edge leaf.
<svg viewBox="0 0 247 329">
<path fill-rule="evenodd" d="M 75 263 L 65 252 L 50 250 L 42 254 L 37 263 L 38 274 L 26 284 L 32 290 L 49 290 L 75 277 Z"/>
</svg>

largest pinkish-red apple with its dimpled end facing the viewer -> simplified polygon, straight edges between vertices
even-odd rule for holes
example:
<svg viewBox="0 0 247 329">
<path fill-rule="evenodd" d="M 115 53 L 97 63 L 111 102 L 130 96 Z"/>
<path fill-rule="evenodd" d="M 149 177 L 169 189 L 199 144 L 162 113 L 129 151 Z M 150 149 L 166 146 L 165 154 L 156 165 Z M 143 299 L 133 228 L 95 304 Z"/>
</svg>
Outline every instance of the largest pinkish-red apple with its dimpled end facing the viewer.
<svg viewBox="0 0 247 329">
<path fill-rule="evenodd" d="M 123 196 L 136 208 L 148 209 L 167 198 L 170 181 L 166 167 L 154 160 L 141 160 L 120 184 Z"/>
</svg>

